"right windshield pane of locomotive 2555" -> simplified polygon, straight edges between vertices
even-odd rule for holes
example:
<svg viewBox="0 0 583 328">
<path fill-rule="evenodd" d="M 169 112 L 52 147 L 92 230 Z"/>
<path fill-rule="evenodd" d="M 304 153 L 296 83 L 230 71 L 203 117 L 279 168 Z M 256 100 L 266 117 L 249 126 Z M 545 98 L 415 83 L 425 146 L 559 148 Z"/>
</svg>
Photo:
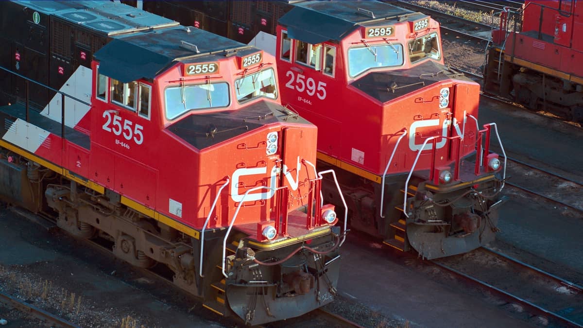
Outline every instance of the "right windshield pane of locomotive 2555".
<svg viewBox="0 0 583 328">
<path fill-rule="evenodd" d="M 245 102 L 258 97 L 275 99 L 278 97 L 278 88 L 275 85 L 275 73 L 273 69 L 265 69 L 264 71 L 238 79 L 235 81 L 235 93 L 239 102 Z"/>
</svg>

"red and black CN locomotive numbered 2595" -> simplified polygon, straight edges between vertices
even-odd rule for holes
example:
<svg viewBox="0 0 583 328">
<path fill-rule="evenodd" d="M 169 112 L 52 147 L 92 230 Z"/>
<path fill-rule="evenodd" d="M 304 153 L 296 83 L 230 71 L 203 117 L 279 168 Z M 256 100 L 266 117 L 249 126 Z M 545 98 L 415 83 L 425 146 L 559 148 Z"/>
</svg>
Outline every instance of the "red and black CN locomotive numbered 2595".
<svg viewBox="0 0 583 328">
<path fill-rule="evenodd" d="M 477 124 L 479 85 L 444 66 L 435 20 L 378 1 L 218 5 L 143 2 L 244 41 L 277 35 L 264 49 L 276 49 L 282 103 L 318 125 L 318 168 L 336 169 L 352 228 L 429 259 L 494 239 L 505 172 L 489 151 L 495 125 Z M 323 189 L 342 204 L 335 183 Z"/>
</svg>

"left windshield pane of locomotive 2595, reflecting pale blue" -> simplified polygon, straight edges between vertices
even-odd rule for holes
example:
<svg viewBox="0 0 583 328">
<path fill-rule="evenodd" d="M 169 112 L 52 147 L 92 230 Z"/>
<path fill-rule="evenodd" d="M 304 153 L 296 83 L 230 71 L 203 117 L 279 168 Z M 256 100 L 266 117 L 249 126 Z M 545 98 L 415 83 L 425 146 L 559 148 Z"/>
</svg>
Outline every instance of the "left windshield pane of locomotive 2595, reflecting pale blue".
<svg viewBox="0 0 583 328">
<path fill-rule="evenodd" d="M 400 65 L 403 65 L 401 44 L 384 44 L 348 50 L 348 73 L 352 77 L 370 68 Z"/>
</svg>

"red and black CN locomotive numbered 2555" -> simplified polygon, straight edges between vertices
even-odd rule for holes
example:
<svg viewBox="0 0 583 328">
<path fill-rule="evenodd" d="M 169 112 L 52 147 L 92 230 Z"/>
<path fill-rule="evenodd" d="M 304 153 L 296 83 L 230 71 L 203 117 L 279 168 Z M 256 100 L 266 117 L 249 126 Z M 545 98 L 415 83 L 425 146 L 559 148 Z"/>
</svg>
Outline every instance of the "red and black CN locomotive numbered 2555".
<svg viewBox="0 0 583 328">
<path fill-rule="evenodd" d="M 332 301 L 344 231 L 321 182 L 333 172 L 315 168 L 315 125 L 281 106 L 272 55 L 113 2 L 0 8 L 42 40 L 2 26 L 17 49 L 1 62 L 3 198 L 135 266 L 166 266 L 248 324 Z M 61 91 L 27 78 L 34 46 Z"/>
</svg>

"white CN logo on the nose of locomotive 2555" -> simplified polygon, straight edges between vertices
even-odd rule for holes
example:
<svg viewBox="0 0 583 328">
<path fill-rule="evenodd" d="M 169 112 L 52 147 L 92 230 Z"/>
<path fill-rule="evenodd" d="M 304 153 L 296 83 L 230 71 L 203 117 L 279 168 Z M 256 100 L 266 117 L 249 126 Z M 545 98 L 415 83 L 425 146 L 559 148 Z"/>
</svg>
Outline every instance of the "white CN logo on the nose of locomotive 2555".
<svg viewBox="0 0 583 328">
<path fill-rule="evenodd" d="M 297 186 L 299 183 L 299 178 L 300 178 L 300 156 L 297 157 L 297 169 L 296 169 L 296 179 L 294 180 L 293 176 L 291 176 L 291 173 L 289 172 L 289 170 L 287 170 L 287 165 L 283 165 L 283 175 L 286 177 L 287 179 L 287 183 L 289 183 L 291 189 L 293 190 L 297 190 Z M 273 197 L 273 195 L 275 194 L 275 189 L 276 189 L 276 182 L 277 182 L 277 177 L 278 177 L 278 168 L 274 165 L 271 168 L 271 185 L 269 186 L 269 190 L 266 189 L 262 189 L 262 190 L 266 190 L 264 193 L 249 193 L 247 194 L 247 196 L 245 196 L 245 193 L 243 194 L 239 194 L 239 188 L 238 188 L 238 184 L 239 184 L 239 179 L 242 176 L 253 176 L 253 175 L 261 175 L 261 176 L 265 176 L 265 173 L 267 173 L 267 166 L 265 166 L 264 168 L 241 168 L 241 169 L 236 169 L 235 172 L 233 172 L 233 183 L 231 183 L 231 199 L 233 199 L 233 201 L 236 202 L 240 202 L 243 201 L 243 198 L 245 198 L 245 201 L 257 201 L 257 200 L 267 200 L 271 197 Z M 245 196 L 245 197 L 244 197 Z"/>
</svg>

